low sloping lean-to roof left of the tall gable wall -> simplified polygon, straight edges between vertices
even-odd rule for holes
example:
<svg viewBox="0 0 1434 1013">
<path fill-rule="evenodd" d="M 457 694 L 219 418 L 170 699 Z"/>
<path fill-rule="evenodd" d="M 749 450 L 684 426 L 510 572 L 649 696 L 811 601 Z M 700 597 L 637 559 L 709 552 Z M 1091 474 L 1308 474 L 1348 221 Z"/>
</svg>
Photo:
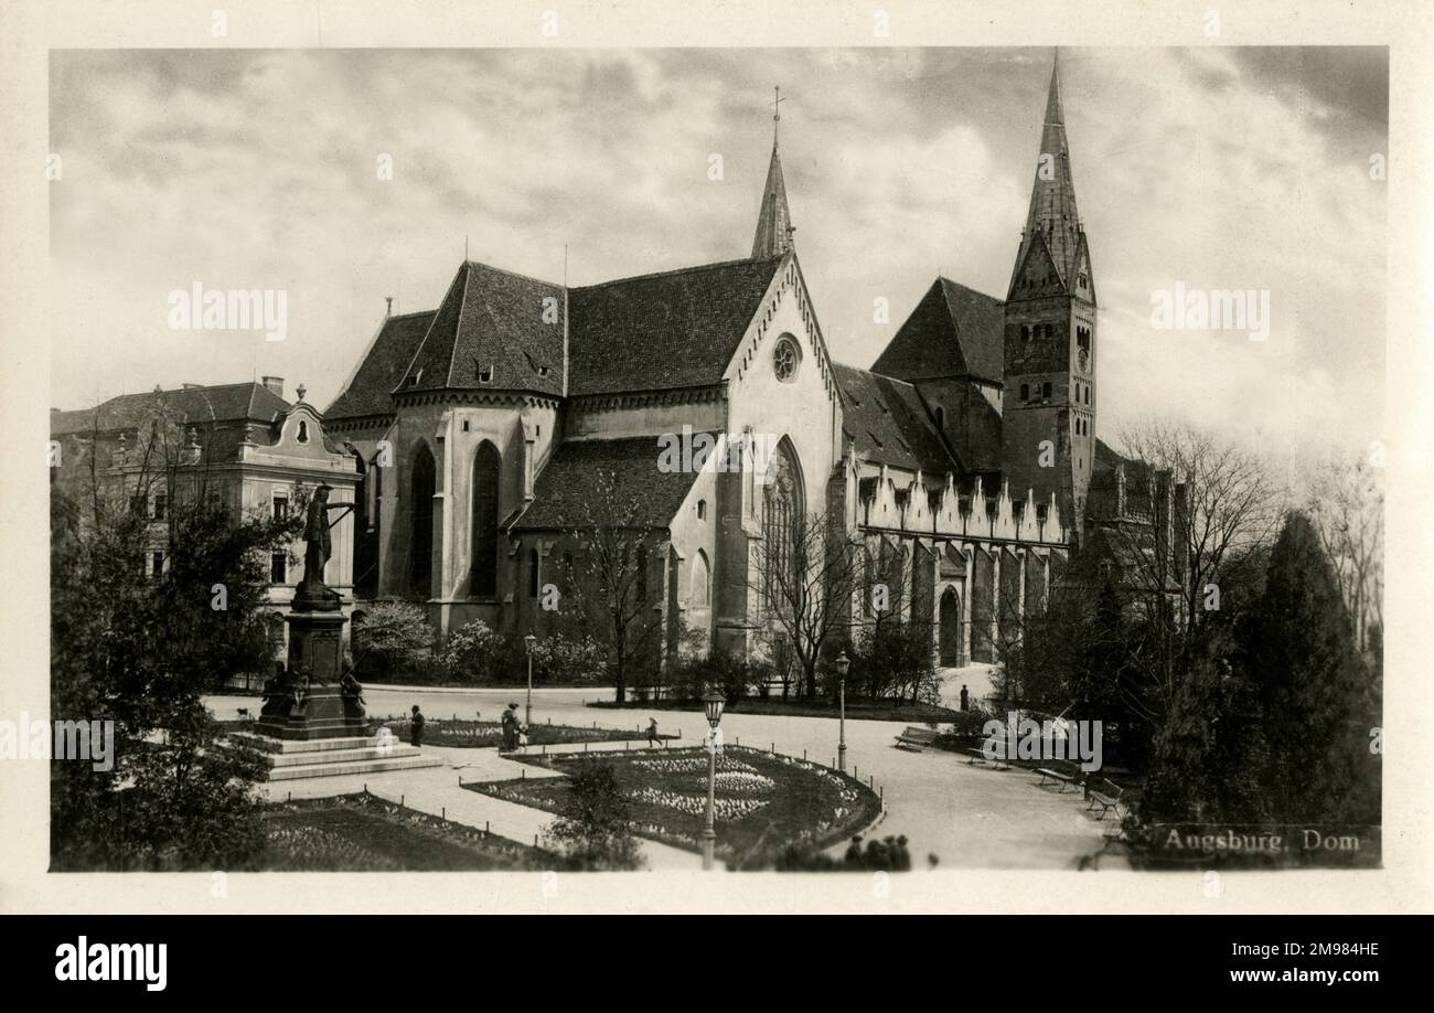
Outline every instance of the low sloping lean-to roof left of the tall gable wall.
<svg viewBox="0 0 1434 1013">
<path fill-rule="evenodd" d="M 533 502 L 513 528 L 668 527 L 697 472 L 658 471 L 660 452 L 657 436 L 562 443 L 538 475 Z"/>
</svg>

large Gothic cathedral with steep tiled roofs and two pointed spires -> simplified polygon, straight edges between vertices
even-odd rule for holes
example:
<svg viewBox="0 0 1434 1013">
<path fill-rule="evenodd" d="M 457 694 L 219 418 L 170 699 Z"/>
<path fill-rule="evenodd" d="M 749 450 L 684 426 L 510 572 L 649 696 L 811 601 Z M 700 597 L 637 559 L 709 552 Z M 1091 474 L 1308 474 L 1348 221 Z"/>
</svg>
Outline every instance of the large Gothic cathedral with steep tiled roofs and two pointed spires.
<svg viewBox="0 0 1434 1013">
<path fill-rule="evenodd" d="M 870 369 L 837 363 L 793 232 L 774 141 L 750 257 L 584 287 L 466 261 L 437 308 L 387 316 L 323 413 L 354 458 L 351 606 L 541 633 L 581 532 L 617 525 L 641 532 L 665 649 L 695 630 L 744 651 L 767 621 L 756 560 L 822 514 L 899 574 L 941 666 L 997 660 L 1119 462 L 1096 439 L 1058 65 L 1004 301 L 936 277 Z M 663 468 L 674 433 L 746 435 L 766 461 Z M 609 486 L 635 508 L 614 515 Z"/>
</svg>

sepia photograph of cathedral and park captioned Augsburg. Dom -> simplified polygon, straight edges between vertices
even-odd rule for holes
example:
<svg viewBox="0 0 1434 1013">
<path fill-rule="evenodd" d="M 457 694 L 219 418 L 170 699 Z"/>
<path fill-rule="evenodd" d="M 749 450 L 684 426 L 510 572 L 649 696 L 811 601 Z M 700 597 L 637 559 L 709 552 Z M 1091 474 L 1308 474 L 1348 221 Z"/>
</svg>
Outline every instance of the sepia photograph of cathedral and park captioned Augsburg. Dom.
<svg viewBox="0 0 1434 1013">
<path fill-rule="evenodd" d="M 52 872 L 1378 868 L 1388 75 L 53 50 Z"/>
</svg>

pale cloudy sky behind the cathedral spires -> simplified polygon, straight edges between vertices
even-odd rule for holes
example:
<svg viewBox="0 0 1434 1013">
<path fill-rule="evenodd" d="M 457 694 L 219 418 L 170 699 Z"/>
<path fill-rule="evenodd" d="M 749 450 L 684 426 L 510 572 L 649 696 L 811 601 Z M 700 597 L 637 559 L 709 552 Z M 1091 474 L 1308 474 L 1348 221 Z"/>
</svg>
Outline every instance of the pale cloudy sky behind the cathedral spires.
<svg viewBox="0 0 1434 1013">
<path fill-rule="evenodd" d="M 796 244 L 839 359 L 938 273 L 1004 297 L 1051 52 L 56 52 L 52 403 L 281 374 L 320 407 L 463 255 L 587 284 L 746 257 L 782 85 Z M 1061 53 L 1101 301 L 1097 435 L 1182 413 L 1285 448 L 1382 436 L 1382 49 Z M 723 178 L 708 179 L 711 155 Z M 393 178 L 379 178 L 380 156 Z M 282 288 L 288 334 L 171 330 Z M 1152 293 L 1268 290 L 1271 336 L 1157 330 Z M 873 323 L 873 300 L 891 321 Z"/>
</svg>

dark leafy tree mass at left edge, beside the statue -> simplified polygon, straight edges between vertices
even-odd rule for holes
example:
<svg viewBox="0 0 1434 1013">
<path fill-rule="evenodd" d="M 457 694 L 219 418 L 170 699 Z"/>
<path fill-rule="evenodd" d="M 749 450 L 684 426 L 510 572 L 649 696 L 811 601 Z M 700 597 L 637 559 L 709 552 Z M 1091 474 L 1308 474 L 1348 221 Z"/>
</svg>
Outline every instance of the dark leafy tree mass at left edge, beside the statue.
<svg viewBox="0 0 1434 1013">
<path fill-rule="evenodd" d="M 115 727 L 113 769 L 50 765 L 54 870 L 232 868 L 262 845 L 261 765 L 202 694 L 265 667 L 268 558 L 303 515 L 232 515 L 212 433 L 163 405 L 151 422 L 132 448 L 96 426 L 80 495 L 52 485 L 50 713 Z"/>
</svg>

